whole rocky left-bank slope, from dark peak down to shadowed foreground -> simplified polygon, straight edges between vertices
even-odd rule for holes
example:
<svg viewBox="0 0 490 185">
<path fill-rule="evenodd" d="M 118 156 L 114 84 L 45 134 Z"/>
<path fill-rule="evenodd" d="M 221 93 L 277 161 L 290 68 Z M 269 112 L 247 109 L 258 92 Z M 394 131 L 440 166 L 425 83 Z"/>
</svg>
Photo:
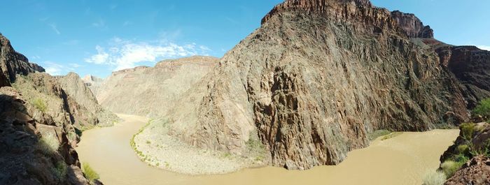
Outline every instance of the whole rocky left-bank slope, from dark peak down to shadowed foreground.
<svg viewBox="0 0 490 185">
<path fill-rule="evenodd" d="M 89 184 L 74 149 L 76 127 L 97 118 L 5 37 L 0 41 L 0 184 Z"/>
</svg>

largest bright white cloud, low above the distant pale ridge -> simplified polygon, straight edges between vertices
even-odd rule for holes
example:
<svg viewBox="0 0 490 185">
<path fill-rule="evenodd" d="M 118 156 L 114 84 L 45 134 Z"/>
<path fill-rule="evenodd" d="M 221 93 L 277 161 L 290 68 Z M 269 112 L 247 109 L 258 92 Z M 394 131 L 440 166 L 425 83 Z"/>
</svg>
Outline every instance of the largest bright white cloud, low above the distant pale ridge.
<svg viewBox="0 0 490 185">
<path fill-rule="evenodd" d="M 177 45 L 162 40 L 154 42 L 135 42 L 134 40 L 123 40 L 113 38 L 109 49 L 97 45 L 97 54 L 85 59 L 92 64 L 105 64 L 115 66 L 115 70 L 134 68 L 141 62 L 156 62 L 160 59 L 176 57 L 187 57 L 197 54 L 207 54 L 211 51 L 209 47 L 191 43 L 188 45 Z"/>
</svg>

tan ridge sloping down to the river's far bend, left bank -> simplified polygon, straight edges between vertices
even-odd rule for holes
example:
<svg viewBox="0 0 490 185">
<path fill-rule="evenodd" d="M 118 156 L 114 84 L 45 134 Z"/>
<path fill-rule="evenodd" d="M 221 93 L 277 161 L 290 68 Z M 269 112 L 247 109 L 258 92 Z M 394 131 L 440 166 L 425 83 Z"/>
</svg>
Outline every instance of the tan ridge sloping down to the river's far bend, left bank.
<svg viewBox="0 0 490 185">
<path fill-rule="evenodd" d="M 118 121 L 116 114 L 105 110 L 99 105 L 92 91 L 90 91 L 86 83 L 76 73 L 59 76 L 57 80 L 62 89 L 66 91 L 66 94 L 71 96 L 78 105 L 83 106 L 85 110 L 97 117 L 98 126 L 113 126 Z"/>
</svg>

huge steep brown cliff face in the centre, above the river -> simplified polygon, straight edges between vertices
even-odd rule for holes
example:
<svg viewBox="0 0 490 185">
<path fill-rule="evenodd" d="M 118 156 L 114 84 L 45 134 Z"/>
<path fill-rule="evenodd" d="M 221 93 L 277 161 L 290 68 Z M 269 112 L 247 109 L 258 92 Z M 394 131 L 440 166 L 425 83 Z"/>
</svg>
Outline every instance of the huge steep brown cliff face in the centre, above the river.
<svg viewBox="0 0 490 185">
<path fill-rule="evenodd" d="M 169 133 L 238 155 L 258 137 L 272 165 L 307 169 L 340 163 L 377 129 L 468 119 L 437 54 L 408 35 L 369 1 L 285 1 L 170 110 Z"/>
</svg>

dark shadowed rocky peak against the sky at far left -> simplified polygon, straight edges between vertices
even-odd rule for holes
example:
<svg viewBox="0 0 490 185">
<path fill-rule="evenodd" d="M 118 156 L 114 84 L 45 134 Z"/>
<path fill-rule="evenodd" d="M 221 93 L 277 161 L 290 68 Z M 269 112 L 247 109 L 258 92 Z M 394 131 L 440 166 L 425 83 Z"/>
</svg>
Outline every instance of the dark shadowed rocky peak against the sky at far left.
<svg viewBox="0 0 490 185">
<path fill-rule="evenodd" d="M 10 41 L 0 34 L 0 67 L 1 73 L 11 82 L 15 81 L 15 75 L 27 75 L 28 73 L 44 72 L 44 68 L 29 62 L 27 57 L 15 52 Z M 1 76 L 0 76 L 1 79 Z"/>
</svg>

